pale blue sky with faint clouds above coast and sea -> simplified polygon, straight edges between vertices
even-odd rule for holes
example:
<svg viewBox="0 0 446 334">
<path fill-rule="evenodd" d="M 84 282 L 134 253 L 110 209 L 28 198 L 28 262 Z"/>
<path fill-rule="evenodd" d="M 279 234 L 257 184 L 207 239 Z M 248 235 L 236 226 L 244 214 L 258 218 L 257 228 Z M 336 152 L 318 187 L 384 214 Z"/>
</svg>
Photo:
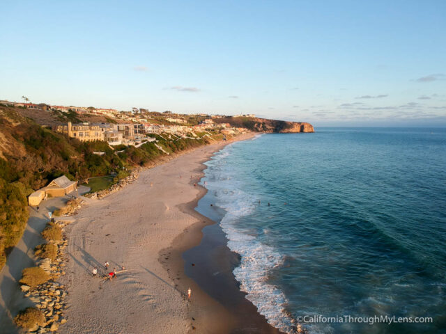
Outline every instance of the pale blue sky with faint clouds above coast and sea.
<svg viewBox="0 0 446 334">
<path fill-rule="evenodd" d="M 446 127 L 446 1 L 10 1 L 0 100 Z"/>
</svg>

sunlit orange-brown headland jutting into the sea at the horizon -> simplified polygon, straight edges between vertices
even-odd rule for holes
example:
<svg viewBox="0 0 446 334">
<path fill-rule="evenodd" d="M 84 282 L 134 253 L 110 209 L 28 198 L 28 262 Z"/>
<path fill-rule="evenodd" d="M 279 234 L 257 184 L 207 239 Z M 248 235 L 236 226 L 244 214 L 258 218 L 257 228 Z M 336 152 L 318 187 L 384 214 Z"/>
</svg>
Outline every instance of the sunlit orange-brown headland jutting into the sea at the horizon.
<svg viewBox="0 0 446 334">
<path fill-rule="evenodd" d="M 214 122 L 229 123 L 232 127 L 244 127 L 254 132 L 266 132 L 275 134 L 314 132 L 313 125 L 306 122 L 269 120 L 268 118 L 225 116 L 222 118 L 215 118 Z"/>
</svg>

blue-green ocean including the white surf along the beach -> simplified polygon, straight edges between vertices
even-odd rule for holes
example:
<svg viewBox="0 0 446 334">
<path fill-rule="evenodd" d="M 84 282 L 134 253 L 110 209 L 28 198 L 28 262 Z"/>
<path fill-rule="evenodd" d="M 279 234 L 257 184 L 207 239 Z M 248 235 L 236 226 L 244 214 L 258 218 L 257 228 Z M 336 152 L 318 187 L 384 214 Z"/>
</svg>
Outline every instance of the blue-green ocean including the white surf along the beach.
<svg viewBox="0 0 446 334">
<path fill-rule="evenodd" d="M 309 333 L 445 330 L 446 129 L 264 134 L 207 165 L 201 182 L 241 257 L 234 275 L 270 324 L 291 333 L 292 319 L 320 315 L 338 321 L 303 324 Z M 433 322 L 361 320 L 381 315 Z"/>
</svg>

